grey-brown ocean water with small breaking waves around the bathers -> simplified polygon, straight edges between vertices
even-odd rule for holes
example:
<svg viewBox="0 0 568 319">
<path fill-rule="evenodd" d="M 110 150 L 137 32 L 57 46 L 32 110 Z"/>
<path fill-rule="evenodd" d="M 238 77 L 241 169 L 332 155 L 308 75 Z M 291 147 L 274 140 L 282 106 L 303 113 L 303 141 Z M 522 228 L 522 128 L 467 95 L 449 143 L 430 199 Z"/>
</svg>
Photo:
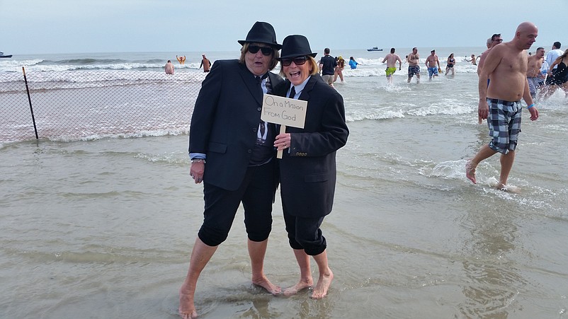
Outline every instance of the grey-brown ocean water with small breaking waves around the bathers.
<svg viewBox="0 0 568 319">
<path fill-rule="evenodd" d="M 423 65 L 430 50 L 419 48 Z M 404 58 L 410 49 L 397 51 Z M 329 296 L 274 297 L 251 286 L 239 209 L 200 277 L 200 318 L 568 317 L 568 100 L 557 92 L 538 102 L 535 122 L 523 112 L 509 178 L 519 194 L 488 186 L 498 156 L 479 165 L 473 185 L 465 162 L 489 137 L 477 124 L 475 66 L 463 59 L 483 48 L 436 51 L 442 65 L 455 53 L 455 76 L 428 81 L 423 67 L 421 83 L 407 83 L 403 65 L 392 86 L 381 63 L 387 48 L 331 52 L 363 65 L 335 85 L 351 134 L 322 226 L 335 274 Z M 13 57 L 0 61 L 0 98 L 22 65 L 45 91 L 106 90 L 117 79 L 152 90 L 167 59 L 179 81 L 198 85 L 201 53 L 183 54 L 185 66 L 176 52 Z M 238 55 L 205 53 L 213 62 Z M 85 76 L 101 70 L 112 76 Z M 169 94 L 164 108 L 184 95 Z M 176 318 L 203 220 L 187 126 L 0 142 L 0 318 Z M 285 287 L 299 272 L 281 214 L 277 199 L 265 272 Z M 317 277 L 314 262 L 312 270 Z"/>
</svg>

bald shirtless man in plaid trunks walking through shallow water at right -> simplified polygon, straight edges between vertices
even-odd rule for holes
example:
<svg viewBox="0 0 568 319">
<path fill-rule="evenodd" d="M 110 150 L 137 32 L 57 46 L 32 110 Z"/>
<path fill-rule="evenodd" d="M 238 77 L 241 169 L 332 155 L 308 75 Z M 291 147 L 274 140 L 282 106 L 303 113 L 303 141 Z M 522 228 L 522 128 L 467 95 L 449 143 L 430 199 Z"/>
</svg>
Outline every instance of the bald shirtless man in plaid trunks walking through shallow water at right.
<svg viewBox="0 0 568 319">
<path fill-rule="evenodd" d="M 513 40 L 493 47 L 487 53 L 485 65 L 479 74 L 479 117 L 487 119 L 489 135 L 493 140 L 465 164 L 465 176 L 474 184 L 475 168 L 479 162 L 501 153 L 501 174 L 498 190 L 507 188 L 507 179 L 515 160 L 518 133 L 521 132 L 521 98 L 530 112 L 530 120 L 538 119 L 538 110 L 528 91 L 526 79 L 528 50 L 535 42 L 538 28 L 530 22 L 518 25 Z M 491 86 L 487 86 L 491 79 Z"/>
</svg>

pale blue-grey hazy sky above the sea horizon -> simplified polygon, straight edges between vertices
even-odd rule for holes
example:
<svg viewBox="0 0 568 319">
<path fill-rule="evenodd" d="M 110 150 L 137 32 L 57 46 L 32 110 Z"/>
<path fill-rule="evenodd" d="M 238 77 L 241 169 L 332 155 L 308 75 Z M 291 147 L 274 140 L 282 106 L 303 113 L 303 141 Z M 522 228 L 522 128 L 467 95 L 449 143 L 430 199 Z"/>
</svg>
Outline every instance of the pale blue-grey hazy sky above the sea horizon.
<svg viewBox="0 0 568 319">
<path fill-rule="evenodd" d="M 233 51 L 255 21 L 271 23 L 279 43 L 306 35 L 314 51 L 482 47 L 531 21 L 539 28 L 532 49 L 550 50 L 555 41 L 568 47 L 567 15 L 567 0 L 0 0 L 0 51 Z"/>
</svg>

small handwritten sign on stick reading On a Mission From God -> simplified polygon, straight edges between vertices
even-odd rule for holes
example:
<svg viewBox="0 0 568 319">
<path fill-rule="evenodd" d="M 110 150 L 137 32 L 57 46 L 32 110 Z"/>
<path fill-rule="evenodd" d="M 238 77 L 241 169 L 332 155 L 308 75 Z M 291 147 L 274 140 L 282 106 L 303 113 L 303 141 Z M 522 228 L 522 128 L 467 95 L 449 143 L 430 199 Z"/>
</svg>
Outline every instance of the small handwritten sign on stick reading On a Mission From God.
<svg viewBox="0 0 568 319">
<path fill-rule="evenodd" d="M 280 124 L 280 134 L 283 134 L 286 132 L 286 126 L 304 128 L 306 110 L 305 100 L 265 94 L 262 100 L 261 120 Z M 276 157 L 282 158 L 282 151 L 278 151 Z"/>
</svg>

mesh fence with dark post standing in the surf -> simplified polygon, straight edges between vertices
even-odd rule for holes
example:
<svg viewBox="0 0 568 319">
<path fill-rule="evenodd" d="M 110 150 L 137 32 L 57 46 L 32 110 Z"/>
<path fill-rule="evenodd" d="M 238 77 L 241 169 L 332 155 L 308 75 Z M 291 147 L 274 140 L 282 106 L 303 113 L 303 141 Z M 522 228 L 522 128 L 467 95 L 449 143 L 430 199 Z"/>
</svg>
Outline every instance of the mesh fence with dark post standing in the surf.
<svg viewBox="0 0 568 319">
<path fill-rule="evenodd" d="M 188 132 L 205 74 L 75 70 L 3 73 L 0 142 L 77 140 Z M 33 110 L 30 110 L 30 101 Z"/>
</svg>

